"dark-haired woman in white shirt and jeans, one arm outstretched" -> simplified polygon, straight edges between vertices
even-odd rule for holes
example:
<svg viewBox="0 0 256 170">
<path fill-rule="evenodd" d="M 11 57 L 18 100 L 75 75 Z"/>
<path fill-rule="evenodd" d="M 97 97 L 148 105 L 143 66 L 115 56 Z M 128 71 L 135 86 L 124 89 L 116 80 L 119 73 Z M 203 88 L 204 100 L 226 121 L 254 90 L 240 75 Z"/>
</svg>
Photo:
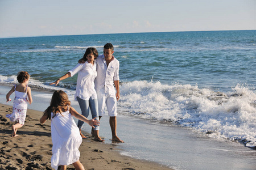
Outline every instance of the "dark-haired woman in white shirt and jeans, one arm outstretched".
<svg viewBox="0 0 256 170">
<path fill-rule="evenodd" d="M 96 59 L 98 57 L 98 52 L 96 48 L 88 48 L 85 51 L 83 59 L 86 61 L 85 63 L 77 64 L 72 70 L 69 70 L 68 73 L 61 76 L 61 78 L 57 79 L 55 82 L 50 83 L 50 85 L 59 84 L 61 80 L 69 78 L 78 73 L 77 82 L 76 82 L 76 94 L 75 100 L 79 102 L 79 106 L 82 111 L 82 115 L 86 118 L 89 116 L 89 110 L 92 112 L 92 117 L 97 117 L 98 120 L 98 100 L 97 94 L 94 89 L 94 79 L 97 76 L 96 71 Z M 86 138 L 82 133 L 82 125 L 83 121 L 78 122 L 77 126 L 79 127 L 80 134 L 82 138 Z M 104 142 L 99 136 L 99 126 L 96 126 L 92 130 L 92 135 L 94 135 L 94 139 L 96 141 Z"/>
</svg>

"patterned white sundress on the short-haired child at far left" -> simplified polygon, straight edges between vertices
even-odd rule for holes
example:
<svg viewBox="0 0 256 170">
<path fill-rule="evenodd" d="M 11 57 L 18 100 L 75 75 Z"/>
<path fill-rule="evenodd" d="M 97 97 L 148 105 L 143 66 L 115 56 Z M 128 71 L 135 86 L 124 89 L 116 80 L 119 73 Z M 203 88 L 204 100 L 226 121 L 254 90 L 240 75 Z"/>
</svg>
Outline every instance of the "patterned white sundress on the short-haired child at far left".
<svg viewBox="0 0 256 170">
<path fill-rule="evenodd" d="M 19 122 L 24 125 L 27 114 L 27 88 L 26 92 L 16 91 L 16 85 L 14 87 L 15 97 L 13 101 L 13 113 L 6 114 L 7 118 L 10 118 L 12 122 Z"/>
</svg>

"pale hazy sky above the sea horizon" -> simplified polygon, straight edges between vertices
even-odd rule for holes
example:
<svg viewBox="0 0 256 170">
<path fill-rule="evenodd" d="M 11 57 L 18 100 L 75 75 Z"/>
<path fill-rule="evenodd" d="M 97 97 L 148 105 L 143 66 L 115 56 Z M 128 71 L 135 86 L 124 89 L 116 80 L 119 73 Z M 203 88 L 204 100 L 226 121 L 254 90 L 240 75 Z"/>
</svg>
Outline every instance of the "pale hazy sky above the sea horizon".
<svg viewBox="0 0 256 170">
<path fill-rule="evenodd" d="M 255 0 L 0 0 L 0 37 L 251 29 Z"/>
</svg>

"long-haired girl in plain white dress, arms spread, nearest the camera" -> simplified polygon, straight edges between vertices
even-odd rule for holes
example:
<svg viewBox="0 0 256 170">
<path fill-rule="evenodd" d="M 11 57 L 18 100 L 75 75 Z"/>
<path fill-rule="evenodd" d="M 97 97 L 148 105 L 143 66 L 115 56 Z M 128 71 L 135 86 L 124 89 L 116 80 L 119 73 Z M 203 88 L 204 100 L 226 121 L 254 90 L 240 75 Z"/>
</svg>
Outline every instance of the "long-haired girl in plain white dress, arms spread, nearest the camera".
<svg viewBox="0 0 256 170">
<path fill-rule="evenodd" d="M 68 95 L 64 91 L 55 91 L 52 95 L 51 104 L 40 118 L 41 124 L 46 122 L 47 119 L 51 120 L 51 167 L 54 169 L 57 169 L 59 165 L 61 169 L 66 169 L 67 165 L 70 164 L 73 164 L 75 169 L 84 169 L 79 160 L 79 147 L 82 143 L 82 137 L 72 116 L 88 123 L 93 128 L 93 125 L 100 124 L 99 121 L 94 120 L 96 117 L 88 120 L 72 108 L 70 104 Z"/>
</svg>

